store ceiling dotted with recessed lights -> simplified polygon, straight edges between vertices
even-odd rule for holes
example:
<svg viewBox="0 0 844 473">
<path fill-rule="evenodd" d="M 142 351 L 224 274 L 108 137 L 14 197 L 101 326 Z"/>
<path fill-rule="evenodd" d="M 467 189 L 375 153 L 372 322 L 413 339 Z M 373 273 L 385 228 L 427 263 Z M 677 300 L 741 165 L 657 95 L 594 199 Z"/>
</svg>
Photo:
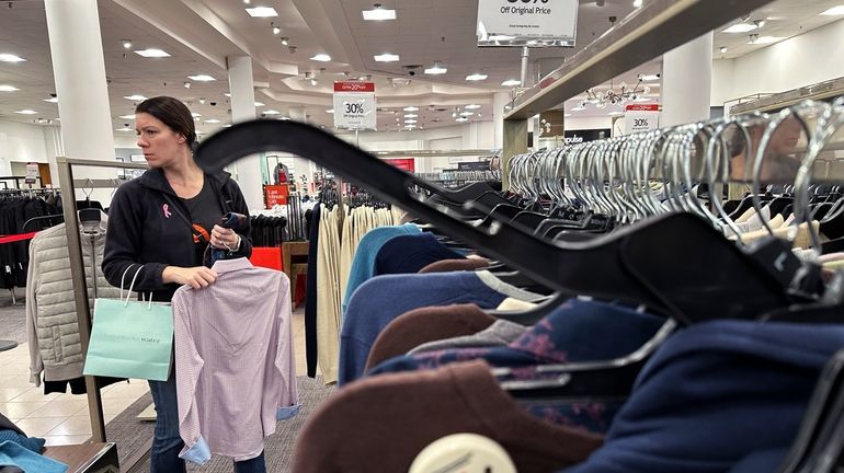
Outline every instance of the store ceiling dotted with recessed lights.
<svg viewBox="0 0 844 473">
<path fill-rule="evenodd" d="M 647 1 L 647 0 L 646 0 Z M 229 123 L 226 57 L 248 55 L 253 58 L 255 100 L 259 114 L 282 117 L 292 109 L 305 113 L 311 122 L 331 127 L 333 119 L 331 84 L 346 77 L 372 76 L 377 83 L 378 127 L 403 128 L 402 109 L 417 106 L 417 125 L 423 128 L 453 125 L 465 105 L 477 104 L 470 120 L 492 117 L 492 94 L 507 91 L 501 82 L 520 76 L 521 48 L 478 48 L 475 46 L 477 0 L 381 0 L 385 8 L 397 10 L 397 20 L 363 21 L 361 11 L 373 7 L 370 0 L 100 0 L 101 30 L 109 93 L 115 129 L 128 124 L 136 102 L 133 94 L 174 95 L 201 114 L 197 128 L 205 134 Z M 531 81 L 534 76 L 558 67 L 564 58 L 589 44 L 609 26 L 609 18 L 619 21 L 634 11 L 632 0 L 581 1 L 578 21 L 578 47 L 531 50 Z M 818 27 L 837 16 L 818 16 L 834 5 L 833 1 L 780 0 L 751 20 L 771 19 L 760 33 L 782 37 Z M 277 18 L 251 18 L 246 7 L 273 7 Z M 0 92 L 0 119 L 23 123 L 56 119 L 58 107 L 44 102 L 55 92 L 49 42 L 43 0 L 0 2 L 0 53 L 12 53 L 26 62 L 0 62 L 0 84 L 20 91 Z M 777 20 L 782 19 L 782 20 Z M 273 34 L 273 25 L 281 28 Z M 726 27 L 726 26 L 725 26 Z M 768 30 L 769 28 L 769 30 Z M 768 31 L 771 33 L 768 33 Z M 288 38 L 288 46 L 282 44 Z M 728 47 L 726 57 L 746 54 L 760 45 L 742 44 L 745 35 L 716 34 L 716 48 Z M 126 49 L 123 39 L 130 39 Z M 746 43 L 746 42 L 744 42 Z M 294 46 L 290 49 L 289 46 Z M 168 51 L 168 58 L 142 58 L 135 49 L 148 47 Z M 317 62 L 316 54 L 332 60 Z M 376 62 L 373 56 L 397 54 L 397 62 Z M 716 50 L 716 57 L 721 54 Z M 443 76 L 425 76 L 407 66 L 430 67 L 440 61 L 448 69 Z M 623 74 L 618 82 L 636 82 L 638 73 L 657 73 L 661 59 Z M 482 82 L 467 82 L 466 76 L 483 72 Z M 205 73 L 213 82 L 196 82 L 189 76 Z M 306 79 L 306 74 L 308 79 Z M 317 84 L 310 82 L 316 79 Z M 408 83 L 409 82 L 409 83 Z M 191 88 L 184 88 L 190 83 Z M 658 88 L 651 85 L 652 95 Z M 215 105 L 212 105 L 212 104 Z M 574 102 L 567 104 L 573 106 Z M 33 109 L 35 115 L 20 115 Z M 580 115 L 605 115 L 611 111 L 590 108 Z M 397 120 L 398 118 L 398 120 Z M 219 123 L 206 123 L 219 120 Z M 130 131 L 126 131 L 127 134 Z"/>
</svg>

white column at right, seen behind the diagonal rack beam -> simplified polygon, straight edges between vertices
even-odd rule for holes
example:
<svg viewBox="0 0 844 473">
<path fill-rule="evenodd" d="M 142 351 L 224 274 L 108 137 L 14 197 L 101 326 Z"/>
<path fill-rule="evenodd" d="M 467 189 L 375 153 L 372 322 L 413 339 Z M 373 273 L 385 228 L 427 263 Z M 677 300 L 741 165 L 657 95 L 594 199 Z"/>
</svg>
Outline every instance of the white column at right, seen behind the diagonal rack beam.
<svg viewBox="0 0 844 473">
<path fill-rule="evenodd" d="M 711 84 L 712 32 L 665 53 L 660 126 L 709 119 Z"/>
</svg>

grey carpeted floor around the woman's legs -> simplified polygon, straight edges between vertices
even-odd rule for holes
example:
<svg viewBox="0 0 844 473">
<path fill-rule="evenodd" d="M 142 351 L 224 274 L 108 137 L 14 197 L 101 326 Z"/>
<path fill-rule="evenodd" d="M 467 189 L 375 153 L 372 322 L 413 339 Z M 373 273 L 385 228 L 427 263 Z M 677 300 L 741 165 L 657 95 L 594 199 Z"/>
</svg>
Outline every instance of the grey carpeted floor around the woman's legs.
<svg viewBox="0 0 844 473">
<path fill-rule="evenodd" d="M 320 404 L 334 392 L 333 387 L 324 387 L 322 384 L 321 378 L 313 380 L 299 377 L 297 381 L 301 411 L 299 411 L 296 417 L 280 422 L 275 435 L 265 440 L 264 452 L 267 472 L 284 473 L 290 470 L 293 450 L 301 426 L 319 408 Z M 117 442 L 121 464 L 124 464 L 126 459 L 130 458 L 138 447 L 142 447 L 145 441 L 152 437 L 153 423 L 141 423 L 135 418 L 150 402 L 151 396 L 149 394 L 145 395 L 124 411 L 123 414 L 110 422 L 105 428 L 109 441 Z M 204 466 L 189 464 L 187 471 L 231 473 L 231 459 L 215 455 Z M 149 472 L 149 458 L 129 471 L 129 473 L 146 472 Z"/>
</svg>

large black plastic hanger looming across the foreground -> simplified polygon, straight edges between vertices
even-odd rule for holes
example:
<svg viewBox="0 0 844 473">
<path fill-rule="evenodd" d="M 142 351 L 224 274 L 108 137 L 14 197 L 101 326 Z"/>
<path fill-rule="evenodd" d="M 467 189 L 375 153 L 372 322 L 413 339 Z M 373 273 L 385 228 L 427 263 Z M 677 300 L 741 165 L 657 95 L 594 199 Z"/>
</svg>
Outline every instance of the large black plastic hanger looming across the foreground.
<svg viewBox="0 0 844 473">
<path fill-rule="evenodd" d="M 480 229 L 410 191 L 418 186 L 446 195 L 440 186 L 326 131 L 289 120 L 233 125 L 203 141 L 194 159 L 213 172 L 265 151 L 312 160 L 552 289 L 643 303 L 684 323 L 754 319 L 796 302 L 788 289 L 797 268 L 782 264 L 794 258 L 789 249 L 775 250 L 773 259 L 764 252 L 764 257 L 755 257 L 691 214 L 654 217 L 583 243 L 543 241 L 505 222 Z"/>
</svg>

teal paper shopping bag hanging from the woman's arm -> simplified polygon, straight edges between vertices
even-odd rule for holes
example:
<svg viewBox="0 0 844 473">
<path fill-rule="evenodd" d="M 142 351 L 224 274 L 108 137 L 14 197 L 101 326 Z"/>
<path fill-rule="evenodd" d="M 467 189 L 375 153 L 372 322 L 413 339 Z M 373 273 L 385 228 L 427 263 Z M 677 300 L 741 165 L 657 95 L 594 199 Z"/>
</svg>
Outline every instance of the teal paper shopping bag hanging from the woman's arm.
<svg viewBox="0 0 844 473">
<path fill-rule="evenodd" d="M 134 265 L 133 265 L 134 266 Z M 130 268 L 132 266 L 129 266 Z M 82 371 L 87 376 L 167 381 L 173 348 L 173 311 L 168 303 L 126 300 L 94 301 L 94 321 Z M 126 272 L 129 270 L 126 269 Z M 124 278 L 126 273 L 123 274 Z"/>
</svg>

